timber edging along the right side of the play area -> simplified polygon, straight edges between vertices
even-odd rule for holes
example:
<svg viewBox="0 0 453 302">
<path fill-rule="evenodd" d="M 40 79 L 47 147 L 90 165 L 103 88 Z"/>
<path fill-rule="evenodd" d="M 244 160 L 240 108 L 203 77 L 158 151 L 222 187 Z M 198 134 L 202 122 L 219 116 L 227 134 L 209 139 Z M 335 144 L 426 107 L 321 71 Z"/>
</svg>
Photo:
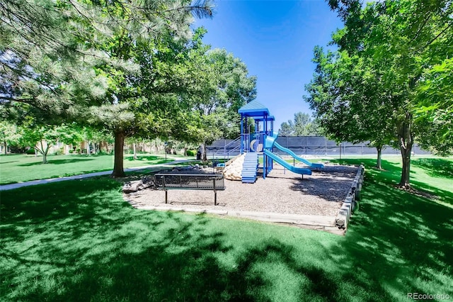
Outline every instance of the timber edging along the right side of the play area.
<svg viewBox="0 0 453 302">
<path fill-rule="evenodd" d="M 364 173 L 365 167 L 361 164 L 357 174 L 355 175 L 354 181 L 352 181 L 351 189 L 348 192 L 345 201 L 343 201 L 343 205 L 341 206 L 336 217 L 335 225 L 339 230 L 343 230 L 344 233 L 348 230 L 350 216 L 354 212 L 355 208 L 358 208 L 359 206 L 357 201 L 360 201 L 360 191 L 362 190 Z"/>
</svg>

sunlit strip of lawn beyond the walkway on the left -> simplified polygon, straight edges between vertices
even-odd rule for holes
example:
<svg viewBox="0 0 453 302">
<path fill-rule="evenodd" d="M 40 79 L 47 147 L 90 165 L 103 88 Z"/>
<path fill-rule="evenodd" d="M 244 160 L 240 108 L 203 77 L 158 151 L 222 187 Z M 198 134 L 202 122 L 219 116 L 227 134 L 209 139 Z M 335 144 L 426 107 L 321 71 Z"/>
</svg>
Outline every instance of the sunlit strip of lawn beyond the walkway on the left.
<svg viewBox="0 0 453 302">
<path fill-rule="evenodd" d="M 132 155 L 125 155 L 124 167 L 142 167 L 150 164 L 162 164 L 173 161 L 174 157 L 165 155 L 139 155 L 134 160 Z M 34 155 L 0 156 L 0 184 L 13 184 L 21 181 L 65 177 L 89 172 L 113 169 L 113 155 L 51 155 L 47 164 L 42 164 L 42 157 Z"/>
</svg>

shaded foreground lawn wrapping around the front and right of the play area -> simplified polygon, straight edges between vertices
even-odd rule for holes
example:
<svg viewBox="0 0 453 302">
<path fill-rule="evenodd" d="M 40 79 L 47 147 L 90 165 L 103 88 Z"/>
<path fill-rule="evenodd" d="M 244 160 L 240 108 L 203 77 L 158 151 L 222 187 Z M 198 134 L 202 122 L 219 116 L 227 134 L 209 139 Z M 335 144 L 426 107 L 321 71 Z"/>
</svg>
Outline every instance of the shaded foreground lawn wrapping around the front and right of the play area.
<svg viewBox="0 0 453 302">
<path fill-rule="evenodd" d="M 1 192 L 2 301 L 408 301 L 453 297 L 453 160 L 367 166 L 345 237 L 139 211 L 108 177 Z"/>
</svg>

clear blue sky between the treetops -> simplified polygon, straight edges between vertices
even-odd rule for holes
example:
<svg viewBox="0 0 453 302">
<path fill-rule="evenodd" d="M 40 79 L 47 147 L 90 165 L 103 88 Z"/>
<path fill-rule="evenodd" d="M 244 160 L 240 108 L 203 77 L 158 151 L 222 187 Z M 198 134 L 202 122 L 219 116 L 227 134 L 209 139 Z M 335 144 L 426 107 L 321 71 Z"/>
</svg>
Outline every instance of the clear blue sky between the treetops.
<svg viewBox="0 0 453 302">
<path fill-rule="evenodd" d="M 342 23 L 323 0 L 265 1 L 217 0 L 203 39 L 212 48 L 224 48 L 239 57 L 258 77 L 257 101 L 275 116 L 274 128 L 310 113 L 302 96 L 314 72 L 313 49 L 326 47 Z"/>
</svg>

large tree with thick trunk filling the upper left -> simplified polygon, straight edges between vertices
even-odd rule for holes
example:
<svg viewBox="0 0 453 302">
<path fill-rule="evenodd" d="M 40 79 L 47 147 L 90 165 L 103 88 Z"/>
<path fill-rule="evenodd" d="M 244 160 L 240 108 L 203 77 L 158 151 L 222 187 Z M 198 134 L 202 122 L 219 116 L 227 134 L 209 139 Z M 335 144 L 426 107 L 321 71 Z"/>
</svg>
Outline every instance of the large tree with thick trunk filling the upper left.
<svg viewBox="0 0 453 302">
<path fill-rule="evenodd" d="M 177 107 L 177 98 L 163 94 L 180 91 L 181 83 L 167 79 L 188 77 L 164 69 L 156 53 L 168 51 L 173 57 L 165 59 L 177 61 L 193 16 L 212 16 L 212 6 L 207 0 L 6 0 L 0 13 L 1 113 L 18 121 L 28 115 L 43 124 L 73 119 L 109 128 L 113 177 L 120 177 L 124 138 L 143 128 L 137 118 L 149 119 L 149 110 L 140 110 L 163 99 Z M 161 82 L 151 82 L 159 89 L 141 90 L 139 82 L 150 79 L 142 77 L 140 56 L 156 63 Z"/>
</svg>

